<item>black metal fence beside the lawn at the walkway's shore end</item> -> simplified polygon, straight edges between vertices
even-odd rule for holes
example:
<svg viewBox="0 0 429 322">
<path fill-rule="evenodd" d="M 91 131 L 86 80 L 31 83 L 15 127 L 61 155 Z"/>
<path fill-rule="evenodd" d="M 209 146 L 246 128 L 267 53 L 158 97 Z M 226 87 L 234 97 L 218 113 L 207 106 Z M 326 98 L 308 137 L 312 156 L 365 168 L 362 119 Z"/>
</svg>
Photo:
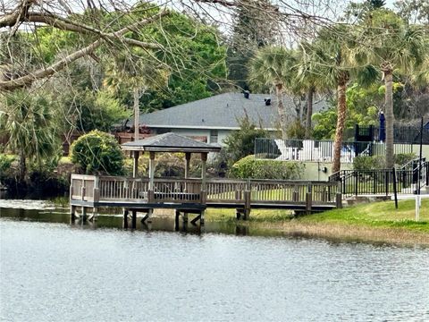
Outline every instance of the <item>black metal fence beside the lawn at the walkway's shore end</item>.
<svg viewBox="0 0 429 322">
<path fill-rule="evenodd" d="M 380 170 L 342 170 L 332 174 L 331 182 L 341 182 L 343 198 L 357 195 L 391 195 L 395 190 L 398 194 L 415 194 L 429 185 L 429 162 L 414 162 L 411 166 L 401 169 Z"/>
</svg>

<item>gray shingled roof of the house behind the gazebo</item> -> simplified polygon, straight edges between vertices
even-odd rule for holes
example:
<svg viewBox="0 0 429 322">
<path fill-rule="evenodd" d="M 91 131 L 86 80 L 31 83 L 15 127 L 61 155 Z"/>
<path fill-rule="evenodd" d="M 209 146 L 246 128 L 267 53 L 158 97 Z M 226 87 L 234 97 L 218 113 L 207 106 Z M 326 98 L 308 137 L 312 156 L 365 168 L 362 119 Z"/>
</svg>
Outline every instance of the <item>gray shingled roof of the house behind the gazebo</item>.
<svg viewBox="0 0 429 322">
<path fill-rule="evenodd" d="M 275 129 L 278 120 L 275 97 L 271 96 L 271 106 L 265 106 L 268 94 L 250 94 L 245 98 L 241 93 L 224 93 L 198 101 L 173 106 L 140 116 L 140 124 L 150 127 L 194 128 L 194 129 L 238 129 L 238 120 L 248 114 L 252 123 L 262 124 L 265 129 Z M 286 113 L 295 114 L 293 101 L 283 99 Z M 321 109 L 316 103 L 314 110 Z"/>
</svg>

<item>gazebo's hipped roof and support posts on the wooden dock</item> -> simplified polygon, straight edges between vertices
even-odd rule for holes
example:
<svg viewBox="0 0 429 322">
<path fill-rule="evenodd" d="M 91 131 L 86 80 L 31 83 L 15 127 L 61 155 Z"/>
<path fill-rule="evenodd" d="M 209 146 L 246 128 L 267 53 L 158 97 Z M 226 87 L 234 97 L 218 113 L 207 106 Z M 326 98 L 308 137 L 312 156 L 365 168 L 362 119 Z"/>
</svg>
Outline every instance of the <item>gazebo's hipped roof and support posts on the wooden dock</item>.
<svg viewBox="0 0 429 322">
<path fill-rule="evenodd" d="M 150 191 L 150 193 L 152 194 L 148 196 L 149 200 L 156 199 L 156 196 L 153 195 L 154 193 L 156 193 L 155 192 L 156 153 L 163 153 L 163 152 L 185 153 L 185 174 L 184 174 L 185 180 L 189 179 L 189 163 L 190 163 L 191 154 L 192 153 L 200 154 L 201 156 L 201 180 L 200 180 L 201 190 L 200 191 L 204 193 L 204 191 L 206 191 L 207 155 L 209 152 L 219 152 L 221 150 L 221 147 L 215 147 L 205 142 L 193 140 L 185 136 L 182 136 L 180 134 L 176 134 L 172 132 L 159 134 L 143 140 L 127 142 L 122 144 L 121 148 L 124 151 L 130 151 L 131 156 L 133 157 L 133 171 L 132 171 L 133 178 L 136 178 L 138 175 L 140 155 L 144 154 L 145 152 L 149 153 L 148 191 Z M 185 193 L 188 193 L 188 192 L 189 191 L 185 189 L 185 191 L 181 191 L 178 193 L 181 193 L 182 195 L 184 195 Z M 158 192 L 158 193 L 163 193 L 163 192 Z M 172 192 L 170 192 L 170 194 L 172 194 Z M 181 196 L 176 196 L 176 198 L 177 197 L 180 198 Z M 136 216 L 135 215 L 136 210 L 131 210 L 131 211 L 132 211 L 133 217 Z M 151 208 L 147 209 L 147 217 L 150 216 L 151 212 L 152 212 Z M 186 216 L 187 212 L 185 212 L 184 214 Z M 177 219 L 177 216 L 179 216 L 178 209 L 176 209 L 176 219 Z"/>
</svg>

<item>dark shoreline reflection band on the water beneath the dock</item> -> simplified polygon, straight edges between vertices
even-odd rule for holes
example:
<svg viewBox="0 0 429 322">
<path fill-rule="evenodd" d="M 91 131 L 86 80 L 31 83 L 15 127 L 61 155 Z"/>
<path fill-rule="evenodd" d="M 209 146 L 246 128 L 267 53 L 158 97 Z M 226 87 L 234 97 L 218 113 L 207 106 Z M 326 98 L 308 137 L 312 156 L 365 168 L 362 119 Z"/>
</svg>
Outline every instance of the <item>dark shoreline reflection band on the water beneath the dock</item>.
<svg viewBox="0 0 429 322">
<path fill-rule="evenodd" d="M 122 208 L 105 208 L 99 209 L 96 220 L 83 221 L 81 214 L 77 213 L 77 218 L 71 221 L 70 207 L 68 199 L 54 199 L 53 201 L 46 200 L 4 200 L 0 199 L 0 217 L 17 220 L 17 221 L 32 221 L 44 223 L 56 223 L 70 225 L 73 229 L 97 230 L 97 229 L 116 229 L 128 232 L 171 232 L 182 234 L 200 235 L 202 233 L 216 233 L 236 236 L 265 236 L 265 237 L 286 237 L 290 239 L 311 239 L 320 240 L 321 238 L 310 233 L 299 232 L 284 232 L 282 230 L 260 228 L 257 225 L 248 225 L 247 222 L 226 221 L 226 222 L 210 222 L 206 221 L 205 225 L 196 225 L 191 223 L 194 215 L 189 215 L 189 222 L 186 223 L 180 217 L 178 222 L 175 222 L 173 213 L 170 215 L 156 215 L 153 217 L 152 223 L 142 222 L 142 213 L 139 213 L 136 227 L 131 227 L 131 218 L 128 219 L 128 225 L 124 225 Z M 89 214 L 88 214 L 89 215 Z M 344 237 L 324 237 L 324 240 L 332 242 L 332 244 L 348 243 L 371 243 L 374 245 L 385 245 L 386 242 L 363 241 L 357 238 Z M 412 246 L 412 245 L 408 245 Z M 426 246 L 421 246 L 427 248 Z"/>
</svg>

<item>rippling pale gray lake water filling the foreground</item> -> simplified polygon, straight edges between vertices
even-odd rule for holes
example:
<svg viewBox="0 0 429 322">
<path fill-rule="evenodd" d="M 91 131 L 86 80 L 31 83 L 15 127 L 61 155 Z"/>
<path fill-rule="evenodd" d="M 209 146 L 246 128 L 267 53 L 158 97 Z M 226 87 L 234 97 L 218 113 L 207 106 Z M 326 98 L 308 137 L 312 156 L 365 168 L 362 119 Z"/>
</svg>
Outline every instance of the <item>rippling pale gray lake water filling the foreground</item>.
<svg viewBox="0 0 429 322">
<path fill-rule="evenodd" d="M 0 216 L 1 321 L 429 320 L 427 248 L 70 225 L 43 201 L 0 200 Z"/>
</svg>

